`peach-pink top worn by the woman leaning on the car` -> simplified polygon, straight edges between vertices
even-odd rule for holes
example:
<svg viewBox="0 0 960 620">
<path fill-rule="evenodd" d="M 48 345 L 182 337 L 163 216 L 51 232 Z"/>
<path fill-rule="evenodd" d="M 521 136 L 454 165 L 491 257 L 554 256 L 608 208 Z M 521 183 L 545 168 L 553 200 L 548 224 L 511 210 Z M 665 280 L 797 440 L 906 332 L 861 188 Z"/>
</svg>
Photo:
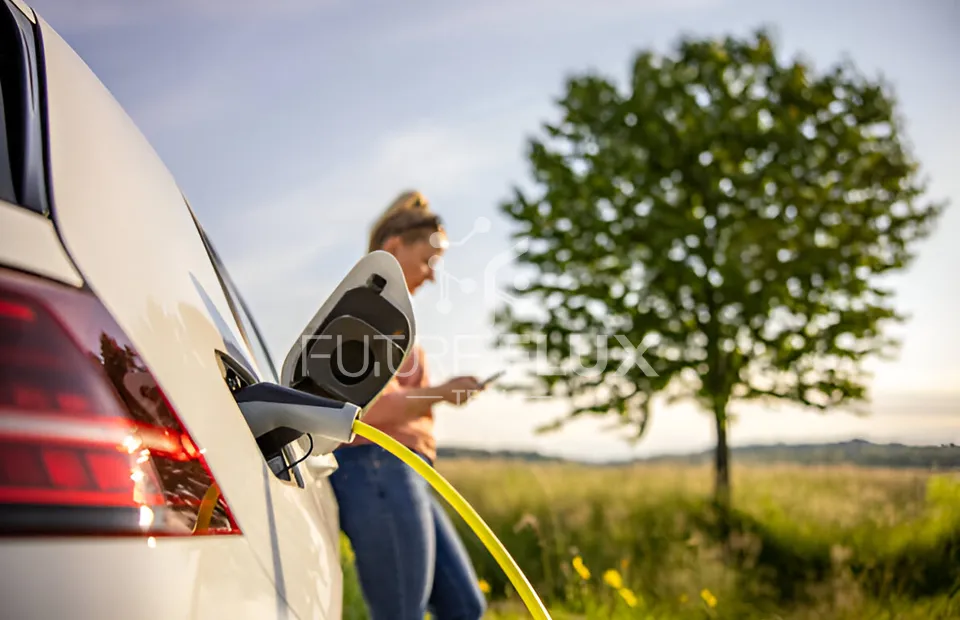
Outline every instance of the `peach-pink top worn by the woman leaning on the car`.
<svg viewBox="0 0 960 620">
<path fill-rule="evenodd" d="M 406 447 L 434 461 L 437 458 L 437 442 L 433 436 L 432 408 L 426 414 L 409 417 L 404 411 L 402 399 L 410 389 L 429 386 L 427 360 L 423 349 L 414 345 L 396 376 L 361 418 L 364 422 L 390 435 Z M 399 405 L 399 406 L 398 406 Z M 344 446 L 359 446 L 371 443 L 359 435 Z"/>
</svg>

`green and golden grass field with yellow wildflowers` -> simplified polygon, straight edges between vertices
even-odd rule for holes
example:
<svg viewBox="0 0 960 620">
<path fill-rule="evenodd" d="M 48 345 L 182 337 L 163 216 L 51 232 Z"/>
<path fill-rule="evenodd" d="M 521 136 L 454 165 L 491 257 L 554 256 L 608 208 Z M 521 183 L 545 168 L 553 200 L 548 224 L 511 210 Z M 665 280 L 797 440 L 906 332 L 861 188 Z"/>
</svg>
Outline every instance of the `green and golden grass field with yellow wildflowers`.
<svg viewBox="0 0 960 620">
<path fill-rule="evenodd" d="M 960 618 L 960 474 L 750 465 L 731 534 L 708 468 L 447 460 L 557 620 Z M 529 615 L 459 518 L 490 618 Z M 366 618 L 349 549 L 344 618 Z"/>
</svg>

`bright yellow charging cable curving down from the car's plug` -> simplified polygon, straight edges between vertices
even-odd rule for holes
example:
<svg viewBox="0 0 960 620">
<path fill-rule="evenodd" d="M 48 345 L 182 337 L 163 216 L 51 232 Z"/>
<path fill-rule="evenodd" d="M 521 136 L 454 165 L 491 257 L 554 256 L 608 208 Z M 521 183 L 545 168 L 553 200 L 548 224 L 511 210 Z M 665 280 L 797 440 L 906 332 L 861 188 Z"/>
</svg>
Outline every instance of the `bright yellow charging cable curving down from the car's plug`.
<svg viewBox="0 0 960 620">
<path fill-rule="evenodd" d="M 507 574 L 507 577 L 510 578 L 510 582 L 513 583 L 513 587 L 517 589 L 520 598 L 523 599 L 524 604 L 527 606 L 527 609 L 530 610 L 533 617 L 539 620 L 551 620 L 547 608 L 544 607 L 543 602 L 540 601 L 540 597 L 537 596 L 536 591 L 530 585 L 530 582 L 527 581 L 520 567 L 517 566 L 517 563 L 507 552 L 503 543 L 500 542 L 484 520 L 480 518 L 480 515 L 477 514 L 473 506 L 471 506 L 467 500 L 463 499 L 463 496 L 460 495 L 443 476 L 437 473 L 437 470 L 430 467 L 423 459 L 396 439 L 369 424 L 357 420 L 353 423 L 353 430 L 357 435 L 379 445 L 423 476 L 426 481 L 430 483 L 430 486 L 436 489 L 443 499 L 447 500 L 447 502 L 453 506 L 453 509 L 463 517 L 474 533 L 480 538 L 487 547 L 487 550 L 493 555 L 497 563 L 500 564 L 500 567 Z"/>
</svg>

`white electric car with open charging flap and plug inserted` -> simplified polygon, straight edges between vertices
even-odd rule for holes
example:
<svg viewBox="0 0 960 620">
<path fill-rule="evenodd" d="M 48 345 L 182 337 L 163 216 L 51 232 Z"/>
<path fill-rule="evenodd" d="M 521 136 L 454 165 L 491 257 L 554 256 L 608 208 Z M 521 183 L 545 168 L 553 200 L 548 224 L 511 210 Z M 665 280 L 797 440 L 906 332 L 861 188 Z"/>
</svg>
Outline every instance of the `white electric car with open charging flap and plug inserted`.
<svg viewBox="0 0 960 620">
<path fill-rule="evenodd" d="M 361 260 L 281 382 L 147 140 L 42 18 L 0 4 L 0 615 L 340 618 L 329 452 L 390 377 L 307 353 L 382 331 L 375 355 L 405 357 L 399 266 Z"/>
</svg>

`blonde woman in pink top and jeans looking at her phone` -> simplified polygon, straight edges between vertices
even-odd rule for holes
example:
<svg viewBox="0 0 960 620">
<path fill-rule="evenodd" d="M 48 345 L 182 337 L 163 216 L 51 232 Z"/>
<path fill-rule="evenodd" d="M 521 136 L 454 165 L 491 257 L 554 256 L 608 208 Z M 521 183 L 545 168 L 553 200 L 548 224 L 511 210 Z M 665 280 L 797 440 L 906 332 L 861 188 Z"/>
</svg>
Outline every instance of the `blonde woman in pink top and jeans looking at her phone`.
<svg viewBox="0 0 960 620">
<path fill-rule="evenodd" d="M 433 281 L 446 247 L 440 218 L 419 192 L 405 192 L 373 226 L 369 250 L 396 257 L 411 294 Z M 420 455 L 436 458 L 433 406 L 463 405 L 481 389 L 474 377 L 431 385 L 423 350 L 410 355 L 364 414 Z M 427 482 L 383 448 L 358 437 L 339 447 L 331 476 L 340 526 L 356 555 L 360 587 L 373 620 L 475 620 L 486 602 L 470 558 Z"/>
</svg>

